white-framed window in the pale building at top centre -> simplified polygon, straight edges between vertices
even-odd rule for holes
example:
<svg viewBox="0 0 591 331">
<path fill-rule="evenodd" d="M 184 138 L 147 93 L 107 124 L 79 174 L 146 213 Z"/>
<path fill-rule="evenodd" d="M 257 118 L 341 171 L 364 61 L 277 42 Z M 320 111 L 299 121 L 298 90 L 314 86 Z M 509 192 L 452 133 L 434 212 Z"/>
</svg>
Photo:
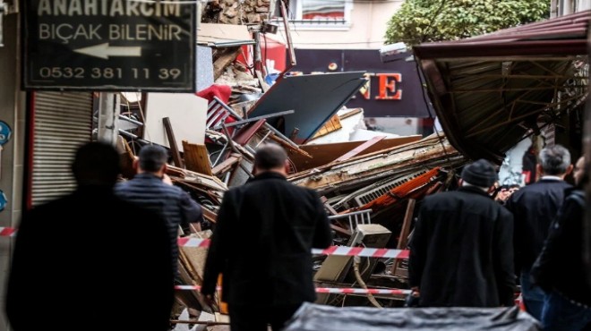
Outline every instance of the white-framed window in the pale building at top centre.
<svg viewBox="0 0 591 331">
<path fill-rule="evenodd" d="M 291 0 L 292 22 L 305 25 L 344 25 L 350 23 L 351 0 Z"/>
</svg>

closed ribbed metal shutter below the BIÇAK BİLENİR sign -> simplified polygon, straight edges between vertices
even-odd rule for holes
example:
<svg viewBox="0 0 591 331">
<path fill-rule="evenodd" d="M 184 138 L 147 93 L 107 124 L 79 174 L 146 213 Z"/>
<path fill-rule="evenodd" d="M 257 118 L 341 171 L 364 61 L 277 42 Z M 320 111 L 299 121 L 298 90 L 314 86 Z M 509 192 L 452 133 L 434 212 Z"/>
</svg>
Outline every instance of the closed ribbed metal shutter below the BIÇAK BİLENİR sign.
<svg viewBox="0 0 591 331">
<path fill-rule="evenodd" d="M 92 93 L 36 92 L 33 102 L 31 204 L 64 196 L 76 183 L 70 166 L 92 134 Z"/>
</svg>

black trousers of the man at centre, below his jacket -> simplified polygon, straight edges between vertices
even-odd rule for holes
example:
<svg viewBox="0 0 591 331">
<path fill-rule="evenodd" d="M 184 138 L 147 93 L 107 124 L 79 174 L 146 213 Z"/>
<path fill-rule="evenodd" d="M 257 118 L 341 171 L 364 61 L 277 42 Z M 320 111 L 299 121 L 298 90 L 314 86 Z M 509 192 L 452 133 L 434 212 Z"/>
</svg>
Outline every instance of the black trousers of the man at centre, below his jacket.
<svg viewBox="0 0 591 331">
<path fill-rule="evenodd" d="M 227 306 L 230 313 L 232 331 L 267 331 L 268 325 L 273 331 L 285 327 L 301 304 L 279 306 L 234 305 Z"/>
</svg>

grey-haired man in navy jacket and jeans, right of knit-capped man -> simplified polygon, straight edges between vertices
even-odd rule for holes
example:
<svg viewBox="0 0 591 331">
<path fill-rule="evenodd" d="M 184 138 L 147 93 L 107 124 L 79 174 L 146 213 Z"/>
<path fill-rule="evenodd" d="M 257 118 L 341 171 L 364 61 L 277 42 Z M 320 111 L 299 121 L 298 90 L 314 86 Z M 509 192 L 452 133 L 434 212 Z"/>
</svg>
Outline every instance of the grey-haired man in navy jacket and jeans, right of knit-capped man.
<svg viewBox="0 0 591 331">
<path fill-rule="evenodd" d="M 521 293 L 527 312 L 536 319 L 542 317 L 544 291 L 531 284 L 529 272 L 542 251 L 548 229 L 564 200 L 564 191 L 571 186 L 564 182 L 570 174 L 570 153 L 561 145 L 547 147 L 538 155 L 538 182 L 513 193 L 505 207 L 515 220 L 516 270 L 521 273 Z"/>
</svg>

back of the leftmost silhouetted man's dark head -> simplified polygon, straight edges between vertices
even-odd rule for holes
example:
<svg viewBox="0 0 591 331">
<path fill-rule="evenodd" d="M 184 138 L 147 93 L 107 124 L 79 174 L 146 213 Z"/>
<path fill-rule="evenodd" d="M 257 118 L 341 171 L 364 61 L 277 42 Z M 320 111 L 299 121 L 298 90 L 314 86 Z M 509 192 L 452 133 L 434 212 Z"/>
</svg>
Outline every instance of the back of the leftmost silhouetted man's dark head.
<svg viewBox="0 0 591 331">
<path fill-rule="evenodd" d="M 115 185 L 120 170 L 120 158 L 115 147 L 99 141 L 82 145 L 76 151 L 72 164 L 79 186 Z"/>
</svg>

